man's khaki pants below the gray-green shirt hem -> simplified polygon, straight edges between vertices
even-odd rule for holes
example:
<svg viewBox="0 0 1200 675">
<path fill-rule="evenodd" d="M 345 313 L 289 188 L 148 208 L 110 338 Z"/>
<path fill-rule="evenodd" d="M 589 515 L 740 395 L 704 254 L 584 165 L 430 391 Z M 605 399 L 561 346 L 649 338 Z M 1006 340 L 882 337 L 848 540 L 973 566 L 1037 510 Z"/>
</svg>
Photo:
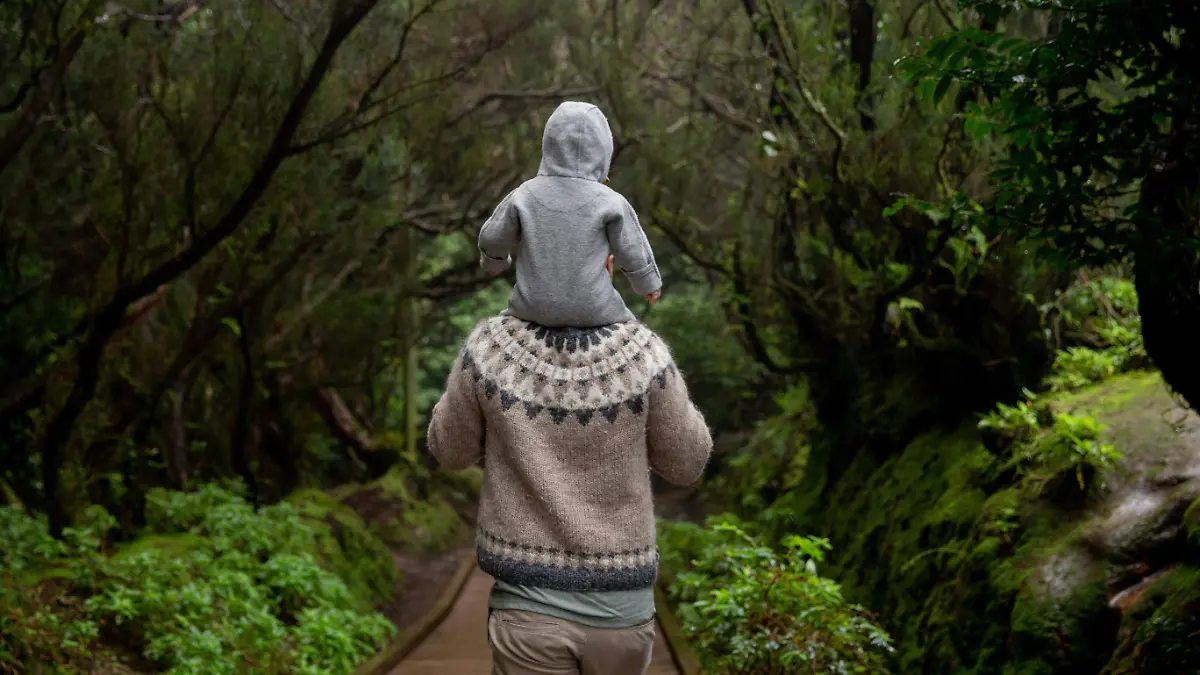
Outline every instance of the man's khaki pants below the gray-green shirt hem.
<svg viewBox="0 0 1200 675">
<path fill-rule="evenodd" d="M 545 614 L 493 609 L 487 617 L 492 675 L 643 675 L 654 620 L 593 628 Z"/>
</svg>

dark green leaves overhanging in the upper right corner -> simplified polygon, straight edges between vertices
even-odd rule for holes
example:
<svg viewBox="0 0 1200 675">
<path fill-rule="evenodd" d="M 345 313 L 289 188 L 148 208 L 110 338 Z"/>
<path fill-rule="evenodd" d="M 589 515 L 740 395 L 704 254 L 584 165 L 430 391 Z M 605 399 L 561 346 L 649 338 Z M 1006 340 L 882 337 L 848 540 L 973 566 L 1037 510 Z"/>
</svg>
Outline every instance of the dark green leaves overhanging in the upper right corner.
<svg viewBox="0 0 1200 675">
<path fill-rule="evenodd" d="M 1031 36 L 998 28 L 1021 25 L 1016 5 L 961 5 L 992 29 L 934 36 L 902 71 L 935 100 L 954 84 L 982 94 L 967 107 L 968 132 L 998 133 L 1008 150 L 994 173 L 995 214 L 1084 264 L 1120 262 L 1146 238 L 1189 245 L 1171 239 L 1170 223 L 1156 226 L 1136 195 L 1166 147 L 1194 132 L 1181 115 L 1195 100 L 1194 74 L 1178 59 L 1195 7 L 1169 2 L 1145 20 L 1124 0 L 1032 2 L 1026 11 L 1042 20 Z"/>
</svg>

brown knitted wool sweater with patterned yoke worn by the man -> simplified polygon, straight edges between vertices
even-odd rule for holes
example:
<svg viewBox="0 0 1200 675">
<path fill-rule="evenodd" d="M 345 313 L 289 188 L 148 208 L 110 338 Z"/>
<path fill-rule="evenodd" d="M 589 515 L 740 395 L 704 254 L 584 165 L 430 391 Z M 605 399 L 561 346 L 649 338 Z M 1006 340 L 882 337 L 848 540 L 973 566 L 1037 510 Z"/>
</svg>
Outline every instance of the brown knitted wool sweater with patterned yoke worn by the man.
<svg viewBox="0 0 1200 675">
<path fill-rule="evenodd" d="M 480 567 L 563 591 L 647 589 L 658 578 L 650 471 L 696 482 L 712 452 L 666 345 L 641 323 L 542 328 L 486 318 L 433 408 L 430 452 L 484 459 Z"/>
</svg>

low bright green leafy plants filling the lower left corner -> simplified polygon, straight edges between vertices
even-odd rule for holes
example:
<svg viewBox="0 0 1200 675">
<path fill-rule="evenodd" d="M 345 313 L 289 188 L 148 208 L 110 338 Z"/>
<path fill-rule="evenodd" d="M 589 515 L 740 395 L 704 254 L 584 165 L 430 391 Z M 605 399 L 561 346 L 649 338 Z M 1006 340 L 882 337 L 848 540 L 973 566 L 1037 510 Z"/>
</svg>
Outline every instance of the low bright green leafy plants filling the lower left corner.
<svg viewBox="0 0 1200 675">
<path fill-rule="evenodd" d="M 42 650 L 80 667 L 106 647 L 140 651 L 167 673 L 350 673 L 395 632 L 343 578 L 322 567 L 320 533 L 289 502 L 256 509 L 227 488 L 156 492 L 155 533 L 102 555 L 115 522 L 95 518 L 68 544 L 44 518 L 0 509 L 10 550 L 0 663 Z M 12 537 L 12 538 L 11 538 Z M 382 551 L 374 551 L 379 555 Z M 30 605 L 30 589 L 59 607 Z M 6 585 L 7 587 L 7 585 Z"/>
</svg>

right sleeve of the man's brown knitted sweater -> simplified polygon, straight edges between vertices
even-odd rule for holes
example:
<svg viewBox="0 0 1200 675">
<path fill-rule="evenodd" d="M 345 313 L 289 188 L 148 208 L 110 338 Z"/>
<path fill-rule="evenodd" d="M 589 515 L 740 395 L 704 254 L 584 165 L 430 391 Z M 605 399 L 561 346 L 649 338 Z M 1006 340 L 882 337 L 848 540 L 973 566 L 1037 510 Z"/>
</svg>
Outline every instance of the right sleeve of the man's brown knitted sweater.
<svg viewBox="0 0 1200 675">
<path fill-rule="evenodd" d="M 713 453 L 713 437 L 678 369 L 670 366 L 650 384 L 647 402 L 650 470 L 676 485 L 696 483 Z"/>
</svg>

